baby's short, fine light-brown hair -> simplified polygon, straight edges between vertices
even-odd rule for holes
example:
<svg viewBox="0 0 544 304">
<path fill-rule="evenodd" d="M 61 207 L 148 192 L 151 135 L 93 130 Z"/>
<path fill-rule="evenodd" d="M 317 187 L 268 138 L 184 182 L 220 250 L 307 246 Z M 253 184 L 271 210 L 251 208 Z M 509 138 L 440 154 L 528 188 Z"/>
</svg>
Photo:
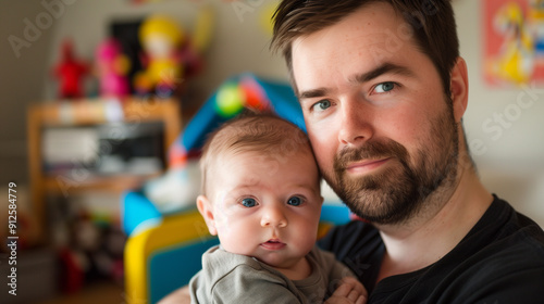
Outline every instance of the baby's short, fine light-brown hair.
<svg viewBox="0 0 544 304">
<path fill-rule="evenodd" d="M 223 124 L 206 141 L 200 157 L 202 194 L 206 195 L 207 176 L 210 167 L 217 165 L 217 159 L 243 152 L 262 153 L 277 162 L 298 153 L 308 153 L 316 160 L 307 135 L 296 125 L 272 113 L 248 112 Z M 320 179 L 318 176 L 317 182 Z"/>
</svg>

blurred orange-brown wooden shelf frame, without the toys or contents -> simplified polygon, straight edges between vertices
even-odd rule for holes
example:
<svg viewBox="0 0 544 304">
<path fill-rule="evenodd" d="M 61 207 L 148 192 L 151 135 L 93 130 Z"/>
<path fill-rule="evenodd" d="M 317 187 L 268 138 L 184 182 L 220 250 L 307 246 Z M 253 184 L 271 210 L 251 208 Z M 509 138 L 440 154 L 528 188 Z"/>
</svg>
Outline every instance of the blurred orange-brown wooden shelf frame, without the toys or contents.
<svg viewBox="0 0 544 304">
<path fill-rule="evenodd" d="M 181 111 L 173 100 L 127 99 L 123 103 L 107 100 L 82 100 L 73 103 L 55 102 L 34 104 L 28 109 L 28 162 L 30 172 L 30 200 L 33 217 L 38 228 L 45 228 L 46 195 L 69 195 L 81 191 L 121 192 L 140 185 L 151 176 L 113 174 L 94 175 L 73 170 L 67 174 L 51 174 L 45 170 L 44 130 L 47 128 L 77 128 L 107 124 L 162 123 L 163 151 L 181 131 Z M 164 155 L 165 159 L 165 155 Z M 82 176 L 82 174 L 85 174 Z M 45 241 L 45 229 L 38 229 L 32 242 Z"/>
</svg>

